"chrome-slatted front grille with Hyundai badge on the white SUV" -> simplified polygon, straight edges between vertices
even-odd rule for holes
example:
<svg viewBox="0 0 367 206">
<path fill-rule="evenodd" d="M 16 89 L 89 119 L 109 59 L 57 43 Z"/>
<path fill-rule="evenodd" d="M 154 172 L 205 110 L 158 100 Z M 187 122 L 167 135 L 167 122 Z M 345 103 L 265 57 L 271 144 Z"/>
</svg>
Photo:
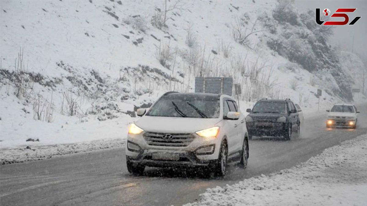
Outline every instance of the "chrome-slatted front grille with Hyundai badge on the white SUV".
<svg viewBox="0 0 367 206">
<path fill-rule="evenodd" d="M 172 139 L 164 139 L 164 135 L 172 135 Z M 152 146 L 168 146 L 168 147 L 186 147 L 193 140 L 195 136 L 192 134 L 169 134 L 169 133 L 156 133 L 156 132 L 146 132 L 144 134 L 144 139 L 146 143 Z"/>
</svg>

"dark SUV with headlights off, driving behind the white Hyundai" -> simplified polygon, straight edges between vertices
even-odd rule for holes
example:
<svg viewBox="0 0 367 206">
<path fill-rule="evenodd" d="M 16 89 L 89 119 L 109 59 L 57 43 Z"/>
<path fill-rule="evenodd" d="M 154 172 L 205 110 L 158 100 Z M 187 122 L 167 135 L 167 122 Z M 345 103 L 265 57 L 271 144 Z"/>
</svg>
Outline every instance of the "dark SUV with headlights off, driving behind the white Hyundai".
<svg viewBox="0 0 367 206">
<path fill-rule="evenodd" d="M 252 136 L 283 136 L 290 140 L 292 131 L 299 132 L 299 114 L 290 99 L 262 99 L 247 109 L 248 139 Z"/>
</svg>

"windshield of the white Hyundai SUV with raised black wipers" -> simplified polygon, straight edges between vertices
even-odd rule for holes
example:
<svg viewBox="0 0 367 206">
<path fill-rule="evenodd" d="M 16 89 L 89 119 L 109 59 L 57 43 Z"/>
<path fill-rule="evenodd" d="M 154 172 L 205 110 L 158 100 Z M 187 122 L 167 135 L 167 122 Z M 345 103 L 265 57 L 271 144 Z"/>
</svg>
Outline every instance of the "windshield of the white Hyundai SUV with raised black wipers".
<svg viewBox="0 0 367 206">
<path fill-rule="evenodd" d="M 147 116 L 218 118 L 218 96 L 168 95 L 152 106 Z"/>
</svg>

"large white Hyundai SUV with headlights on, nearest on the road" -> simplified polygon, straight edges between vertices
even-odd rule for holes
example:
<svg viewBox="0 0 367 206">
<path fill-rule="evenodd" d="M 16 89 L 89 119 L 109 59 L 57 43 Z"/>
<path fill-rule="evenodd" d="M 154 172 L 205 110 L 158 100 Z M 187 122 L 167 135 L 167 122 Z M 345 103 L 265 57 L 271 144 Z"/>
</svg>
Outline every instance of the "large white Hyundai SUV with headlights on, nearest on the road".
<svg viewBox="0 0 367 206">
<path fill-rule="evenodd" d="M 214 169 L 225 176 L 227 164 L 246 168 L 248 135 L 245 116 L 229 95 L 167 92 L 130 125 L 127 169 L 142 174 L 145 166 Z"/>
</svg>

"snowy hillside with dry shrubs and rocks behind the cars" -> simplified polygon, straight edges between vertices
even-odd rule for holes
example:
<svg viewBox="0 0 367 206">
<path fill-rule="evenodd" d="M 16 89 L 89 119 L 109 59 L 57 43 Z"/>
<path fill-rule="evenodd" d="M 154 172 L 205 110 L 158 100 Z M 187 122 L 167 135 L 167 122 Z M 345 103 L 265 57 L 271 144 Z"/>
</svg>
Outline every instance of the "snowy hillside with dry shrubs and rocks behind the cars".
<svg viewBox="0 0 367 206">
<path fill-rule="evenodd" d="M 269 42 L 306 52 L 313 48 L 282 31 L 317 28 L 281 22 L 276 6 L 171 0 L 164 21 L 164 1 L 0 1 L 1 147 L 123 138 L 137 108 L 166 91 L 193 92 L 195 76 L 233 77 L 249 105 L 291 98 L 312 110 L 318 88 L 321 108 L 352 100 L 361 60 L 320 51 L 336 71 L 292 59 Z"/>
</svg>

